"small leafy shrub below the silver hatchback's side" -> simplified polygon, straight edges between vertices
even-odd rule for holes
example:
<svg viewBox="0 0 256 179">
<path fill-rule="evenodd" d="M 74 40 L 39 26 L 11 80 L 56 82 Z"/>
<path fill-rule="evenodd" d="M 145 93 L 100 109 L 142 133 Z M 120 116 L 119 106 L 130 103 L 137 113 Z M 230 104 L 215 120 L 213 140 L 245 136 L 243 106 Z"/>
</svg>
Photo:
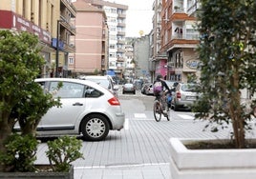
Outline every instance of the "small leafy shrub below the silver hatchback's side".
<svg viewBox="0 0 256 179">
<path fill-rule="evenodd" d="M 81 140 L 75 137 L 62 136 L 47 142 L 49 150 L 46 154 L 54 171 L 69 171 L 70 165 L 78 158 L 83 158 L 79 151 Z"/>
</svg>

